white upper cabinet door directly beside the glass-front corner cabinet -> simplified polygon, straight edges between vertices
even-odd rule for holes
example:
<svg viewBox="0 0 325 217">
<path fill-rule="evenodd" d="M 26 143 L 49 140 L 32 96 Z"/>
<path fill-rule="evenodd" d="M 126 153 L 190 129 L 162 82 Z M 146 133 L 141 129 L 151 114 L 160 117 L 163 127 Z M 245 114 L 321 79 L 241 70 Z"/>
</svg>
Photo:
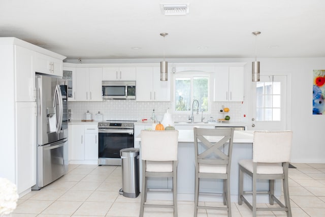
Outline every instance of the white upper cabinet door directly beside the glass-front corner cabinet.
<svg viewBox="0 0 325 217">
<path fill-rule="evenodd" d="M 89 68 L 76 68 L 76 101 L 89 99 Z"/>
</svg>

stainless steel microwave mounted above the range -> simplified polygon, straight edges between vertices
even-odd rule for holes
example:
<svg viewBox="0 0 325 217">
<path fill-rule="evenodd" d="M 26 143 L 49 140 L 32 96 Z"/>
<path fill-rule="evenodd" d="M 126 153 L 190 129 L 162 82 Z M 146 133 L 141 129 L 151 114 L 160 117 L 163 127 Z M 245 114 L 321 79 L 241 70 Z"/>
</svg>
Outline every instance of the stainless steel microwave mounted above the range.
<svg viewBox="0 0 325 217">
<path fill-rule="evenodd" d="M 102 81 L 103 99 L 136 99 L 135 81 Z"/>
</svg>

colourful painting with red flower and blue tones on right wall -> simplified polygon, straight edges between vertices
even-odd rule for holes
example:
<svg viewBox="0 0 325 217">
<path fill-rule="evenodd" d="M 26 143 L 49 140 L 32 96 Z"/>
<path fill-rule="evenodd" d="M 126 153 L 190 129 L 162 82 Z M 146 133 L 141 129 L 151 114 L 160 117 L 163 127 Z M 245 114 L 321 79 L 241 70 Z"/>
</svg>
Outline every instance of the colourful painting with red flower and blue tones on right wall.
<svg viewBox="0 0 325 217">
<path fill-rule="evenodd" d="M 325 70 L 313 70 L 313 114 L 325 114 Z"/>
</svg>

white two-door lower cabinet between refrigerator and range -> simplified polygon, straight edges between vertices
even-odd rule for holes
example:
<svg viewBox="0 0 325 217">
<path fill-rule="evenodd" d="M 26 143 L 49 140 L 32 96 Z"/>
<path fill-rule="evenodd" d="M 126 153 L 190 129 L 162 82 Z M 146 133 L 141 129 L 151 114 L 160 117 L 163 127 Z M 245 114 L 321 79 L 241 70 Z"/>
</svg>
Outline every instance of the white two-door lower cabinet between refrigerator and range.
<svg viewBox="0 0 325 217">
<path fill-rule="evenodd" d="M 98 128 L 96 125 L 69 125 L 69 161 L 77 164 L 98 162 Z"/>
</svg>

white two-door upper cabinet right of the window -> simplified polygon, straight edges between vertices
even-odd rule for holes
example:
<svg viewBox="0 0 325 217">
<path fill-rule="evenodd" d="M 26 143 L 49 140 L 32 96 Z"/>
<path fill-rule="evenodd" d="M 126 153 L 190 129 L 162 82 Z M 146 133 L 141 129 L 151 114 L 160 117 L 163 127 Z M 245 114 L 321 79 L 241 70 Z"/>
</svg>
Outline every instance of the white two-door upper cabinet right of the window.
<svg viewBox="0 0 325 217">
<path fill-rule="evenodd" d="M 216 67 L 214 101 L 244 101 L 244 67 Z"/>
</svg>

